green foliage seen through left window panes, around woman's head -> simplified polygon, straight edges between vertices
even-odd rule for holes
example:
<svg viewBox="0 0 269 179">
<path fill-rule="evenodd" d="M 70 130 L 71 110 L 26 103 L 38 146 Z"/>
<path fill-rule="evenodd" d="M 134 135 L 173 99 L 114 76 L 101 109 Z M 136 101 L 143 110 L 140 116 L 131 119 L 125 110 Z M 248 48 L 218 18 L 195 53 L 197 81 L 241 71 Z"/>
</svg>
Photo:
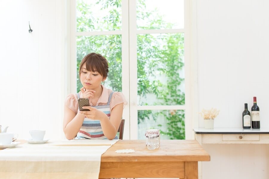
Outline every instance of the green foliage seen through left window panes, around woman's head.
<svg viewBox="0 0 269 179">
<path fill-rule="evenodd" d="M 108 5 L 119 7 L 121 1 L 99 0 L 97 1 L 97 4 L 101 4 L 102 8 L 105 9 L 108 7 Z M 117 24 L 120 24 L 121 20 L 119 18 L 119 13 L 116 12 L 115 9 L 111 9 L 109 11 L 108 17 L 104 19 L 96 19 L 91 14 L 91 11 L 89 11 L 90 8 L 91 7 L 89 7 L 86 1 L 77 1 L 77 11 L 82 14 L 82 16 L 77 17 L 78 31 L 110 29 L 112 22 L 112 30 L 120 30 L 120 27 L 118 27 Z M 121 35 L 110 35 L 77 37 L 77 92 L 79 92 L 80 88 L 82 87 L 79 77 L 80 62 L 85 55 L 92 52 L 100 53 L 108 60 L 109 73 L 107 80 L 103 82 L 103 85 L 111 87 L 114 91 L 122 91 Z"/>
</svg>

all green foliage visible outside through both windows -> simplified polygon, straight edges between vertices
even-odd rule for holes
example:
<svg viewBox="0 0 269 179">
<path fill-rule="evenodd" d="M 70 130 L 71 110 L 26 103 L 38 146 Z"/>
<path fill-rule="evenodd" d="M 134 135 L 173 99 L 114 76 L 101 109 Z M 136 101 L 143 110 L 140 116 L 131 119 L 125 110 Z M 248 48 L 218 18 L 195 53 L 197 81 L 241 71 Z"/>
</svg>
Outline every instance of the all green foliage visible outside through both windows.
<svg viewBox="0 0 269 179">
<path fill-rule="evenodd" d="M 94 18 L 90 7 L 85 1 L 77 1 L 77 11 L 81 16 L 77 18 L 77 30 L 120 30 L 121 0 L 98 0 L 97 4 L 102 9 L 109 8 L 109 16 L 103 19 Z M 111 7 L 115 7 L 112 8 Z M 139 29 L 169 29 L 172 24 L 166 23 L 158 14 L 158 11 L 145 11 L 144 0 L 137 3 L 137 20 L 147 20 L 145 26 Z M 82 58 L 91 52 L 104 55 L 109 64 L 109 75 L 105 81 L 106 86 L 114 91 L 122 91 L 121 70 L 121 36 L 80 36 L 77 37 L 77 69 Z M 184 105 L 185 94 L 180 90 L 184 85 L 184 78 L 180 78 L 180 72 L 184 67 L 184 34 L 142 34 L 137 35 L 137 94 L 140 98 L 139 105 L 148 105 L 143 102 L 148 94 L 154 94 L 156 101 L 153 105 Z M 160 80 L 164 76 L 165 82 Z M 82 87 L 77 75 L 77 91 Z M 145 101 L 145 100 L 144 100 Z M 145 119 L 165 118 L 166 131 L 161 134 L 170 136 L 171 139 L 185 138 L 185 113 L 182 110 L 170 110 L 170 112 L 152 110 L 139 110 L 138 123 Z M 158 121 L 157 121 L 158 122 Z M 158 124 L 159 127 L 162 124 Z"/>
</svg>

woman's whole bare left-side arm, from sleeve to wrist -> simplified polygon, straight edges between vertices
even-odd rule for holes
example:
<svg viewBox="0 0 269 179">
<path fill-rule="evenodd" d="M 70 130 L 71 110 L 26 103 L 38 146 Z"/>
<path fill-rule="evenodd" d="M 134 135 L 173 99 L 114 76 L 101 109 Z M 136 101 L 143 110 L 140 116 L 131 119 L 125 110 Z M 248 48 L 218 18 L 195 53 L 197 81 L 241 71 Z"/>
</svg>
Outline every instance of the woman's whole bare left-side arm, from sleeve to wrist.
<svg viewBox="0 0 269 179">
<path fill-rule="evenodd" d="M 65 105 L 63 131 L 68 140 L 74 139 L 82 126 L 84 114 L 76 113 Z"/>
</svg>

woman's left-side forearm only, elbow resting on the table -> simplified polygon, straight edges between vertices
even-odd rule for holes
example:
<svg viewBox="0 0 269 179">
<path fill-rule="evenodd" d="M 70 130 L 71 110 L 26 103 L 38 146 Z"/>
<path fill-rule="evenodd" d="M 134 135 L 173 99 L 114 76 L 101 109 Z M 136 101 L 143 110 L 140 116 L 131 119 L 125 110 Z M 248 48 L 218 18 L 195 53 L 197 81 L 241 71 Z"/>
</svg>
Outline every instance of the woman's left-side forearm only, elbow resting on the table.
<svg viewBox="0 0 269 179">
<path fill-rule="evenodd" d="M 68 140 L 73 139 L 79 132 L 84 121 L 84 114 L 77 113 L 77 115 L 65 126 L 64 133 Z"/>
</svg>

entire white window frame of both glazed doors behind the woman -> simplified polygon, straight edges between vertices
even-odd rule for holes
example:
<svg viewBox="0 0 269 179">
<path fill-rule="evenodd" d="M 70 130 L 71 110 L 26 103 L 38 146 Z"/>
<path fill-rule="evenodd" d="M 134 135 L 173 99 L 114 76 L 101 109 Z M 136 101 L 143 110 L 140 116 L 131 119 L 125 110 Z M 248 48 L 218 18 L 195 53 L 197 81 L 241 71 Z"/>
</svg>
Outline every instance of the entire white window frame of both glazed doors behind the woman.
<svg viewBox="0 0 269 179">
<path fill-rule="evenodd" d="M 122 92 L 128 101 L 123 118 L 125 119 L 124 139 L 137 139 L 137 110 L 185 110 L 186 139 L 193 139 L 192 124 L 198 126 L 197 117 L 197 61 L 196 53 L 190 55 L 190 47 L 196 49 L 196 37 L 190 37 L 190 30 L 196 34 L 194 28 L 190 29 L 190 20 L 196 22 L 195 14 L 190 17 L 191 7 L 196 10 L 196 1 L 190 4 L 184 0 L 184 28 L 165 30 L 137 30 L 136 27 L 136 1 L 122 0 L 122 30 L 77 32 L 76 27 L 76 1 L 70 1 L 70 58 L 67 64 L 67 93 L 75 93 L 77 89 L 77 36 L 122 35 Z M 184 68 L 185 68 L 185 105 L 173 106 L 137 106 L 137 34 L 151 33 L 184 33 Z M 195 51 L 196 52 L 196 51 Z M 192 67 L 191 67 L 192 64 Z M 132 68 L 130 68 L 132 67 Z M 193 72 L 193 73 L 192 73 Z M 191 107 L 192 103 L 192 107 Z M 195 104 L 193 106 L 193 104 Z M 193 109 L 192 109 L 193 108 Z"/>
</svg>

